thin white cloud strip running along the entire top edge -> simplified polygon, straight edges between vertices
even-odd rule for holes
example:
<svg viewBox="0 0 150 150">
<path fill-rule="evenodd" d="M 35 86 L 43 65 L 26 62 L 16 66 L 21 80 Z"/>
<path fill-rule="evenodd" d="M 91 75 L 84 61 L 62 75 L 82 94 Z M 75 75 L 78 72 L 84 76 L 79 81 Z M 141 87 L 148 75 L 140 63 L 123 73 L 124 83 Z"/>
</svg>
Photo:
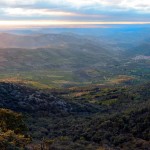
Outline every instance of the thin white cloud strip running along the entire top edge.
<svg viewBox="0 0 150 150">
<path fill-rule="evenodd" d="M 137 10 L 149 11 L 149 0 L 1 0 L 0 7 L 18 7 L 18 6 L 55 6 L 68 7 L 74 9 L 80 8 L 94 8 L 105 9 L 112 8 L 112 10 Z M 108 11 L 108 10 L 107 10 Z"/>
</svg>

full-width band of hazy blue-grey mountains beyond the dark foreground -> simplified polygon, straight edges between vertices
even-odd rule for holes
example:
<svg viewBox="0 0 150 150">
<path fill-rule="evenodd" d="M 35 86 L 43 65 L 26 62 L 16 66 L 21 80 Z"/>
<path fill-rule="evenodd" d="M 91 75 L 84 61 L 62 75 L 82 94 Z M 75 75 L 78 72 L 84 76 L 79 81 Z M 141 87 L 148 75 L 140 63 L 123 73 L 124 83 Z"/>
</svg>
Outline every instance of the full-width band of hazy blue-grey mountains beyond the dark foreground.
<svg viewBox="0 0 150 150">
<path fill-rule="evenodd" d="M 1 33 L 1 76 L 19 74 L 19 78 L 59 86 L 109 82 L 118 75 L 141 78 L 143 72 L 147 80 L 149 59 L 137 58 L 149 58 L 148 40 L 137 42 L 141 37 L 113 34 L 110 40 L 74 33 Z"/>
</svg>

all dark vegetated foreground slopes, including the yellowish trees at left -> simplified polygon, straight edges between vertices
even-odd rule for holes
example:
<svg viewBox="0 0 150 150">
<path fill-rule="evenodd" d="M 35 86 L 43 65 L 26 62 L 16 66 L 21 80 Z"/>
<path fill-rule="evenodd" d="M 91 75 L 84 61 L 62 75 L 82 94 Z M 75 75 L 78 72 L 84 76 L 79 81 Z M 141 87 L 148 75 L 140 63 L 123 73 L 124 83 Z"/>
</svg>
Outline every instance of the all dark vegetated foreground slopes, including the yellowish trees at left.
<svg viewBox="0 0 150 150">
<path fill-rule="evenodd" d="M 2 150 L 149 150 L 150 84 L 37 90 L 0 83 Z"/>
</svg>

